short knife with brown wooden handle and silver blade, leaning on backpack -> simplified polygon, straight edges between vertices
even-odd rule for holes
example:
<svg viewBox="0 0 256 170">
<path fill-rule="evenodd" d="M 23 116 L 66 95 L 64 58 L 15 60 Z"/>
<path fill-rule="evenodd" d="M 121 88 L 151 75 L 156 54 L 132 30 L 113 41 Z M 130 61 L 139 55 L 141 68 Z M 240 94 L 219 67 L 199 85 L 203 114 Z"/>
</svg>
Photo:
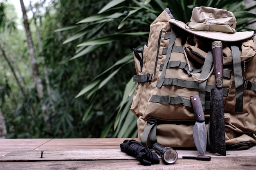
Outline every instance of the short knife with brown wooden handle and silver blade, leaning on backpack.
<svg viewBox="0 0 256 170">
<path fill-rule="evenodd" d="M 207 145 L 207 131 L 205 128 L 204 110 L 198 95 L 191 95 L 190 100 L 195 112 L 195 125 L 193 126 L 195 147 L 198 152 L 204 156 Z"/>
</svg>

